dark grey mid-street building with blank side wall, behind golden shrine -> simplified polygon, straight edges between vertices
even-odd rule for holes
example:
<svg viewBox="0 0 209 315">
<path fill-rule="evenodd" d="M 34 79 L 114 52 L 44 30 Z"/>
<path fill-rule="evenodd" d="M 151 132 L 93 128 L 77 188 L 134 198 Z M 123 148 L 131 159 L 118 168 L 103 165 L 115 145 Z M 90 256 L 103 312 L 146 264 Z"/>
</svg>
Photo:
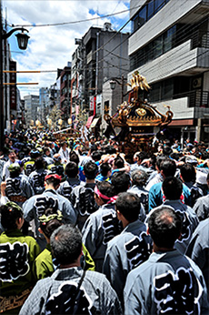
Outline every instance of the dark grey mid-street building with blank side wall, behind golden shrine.
<svg viewBox="0 0 209 315">
<path fill-rule="evenodd" d="M 128 36 L 114 31 L 110 23 L 104 23 L 103 27 L 90 27 L 85 36 L 75 39 L 77 48 L 72 57 L 71 80 L 73 114 L 78 113 L 78 108 L 85 109 L 88 117 L 95 117 L 95 122 L 99 122 L 98 117 L 104 112 L 104 82 L 125 77 L 129 71 Z M 115 102 L 121 102 L 121 93 Z M 95 123 L 93 126 L 96 127 Z"/>
</svg>

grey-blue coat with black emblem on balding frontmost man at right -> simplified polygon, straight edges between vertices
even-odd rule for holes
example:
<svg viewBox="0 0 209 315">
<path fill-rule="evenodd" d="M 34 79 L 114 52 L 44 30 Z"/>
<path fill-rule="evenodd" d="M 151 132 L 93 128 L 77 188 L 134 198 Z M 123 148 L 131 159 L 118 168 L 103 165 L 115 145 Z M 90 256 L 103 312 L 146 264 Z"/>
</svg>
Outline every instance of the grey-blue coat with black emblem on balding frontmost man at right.
<svg viewBox="0 0 209 315">
<path fill-rule="evenodd" d="M 208 314 L 201 270 L 177 249 L 154 252 L 131 271 L 124 288 L 124 314 Z"/>
</svg>

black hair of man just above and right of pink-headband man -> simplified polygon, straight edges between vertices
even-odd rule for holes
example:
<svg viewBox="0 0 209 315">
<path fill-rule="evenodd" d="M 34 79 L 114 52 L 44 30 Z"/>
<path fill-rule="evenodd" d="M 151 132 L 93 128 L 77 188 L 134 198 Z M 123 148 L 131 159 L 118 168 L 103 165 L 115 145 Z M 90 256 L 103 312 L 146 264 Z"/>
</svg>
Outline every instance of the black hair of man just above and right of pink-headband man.
<svg viewBox="0 0 209 315">
<path fill-rule="evenodd" d="M 120 192 L 125 192 L 130 186 L 130 176 L 125 172 L 114 172 L 111 178 L 111 183 L 114 188 L 115 195 Z"/>
</svg>

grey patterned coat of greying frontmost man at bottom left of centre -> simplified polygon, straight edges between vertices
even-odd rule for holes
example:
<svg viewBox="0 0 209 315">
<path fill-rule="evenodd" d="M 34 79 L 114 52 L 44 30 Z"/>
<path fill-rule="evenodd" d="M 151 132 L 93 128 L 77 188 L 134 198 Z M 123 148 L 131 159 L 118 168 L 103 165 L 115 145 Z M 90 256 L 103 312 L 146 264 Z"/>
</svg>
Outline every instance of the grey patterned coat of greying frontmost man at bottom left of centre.
<svg viewBox="0 0 209 315">
<path fill-rule="evenodd" d="M 70 299 L 70 291 L 78 286 L 83 272 L 79 267 L 56 269 L 51 277 L 38 281 L 25 301 L 20 315 L 45 314 L 45 311 L 53 314 L 67 313 L 69 304 L 74 304 Z M 122 314 L 116 293 L 104 275 L 86 271 L 79 291 L 82 293 L 82 303 L 79 305 L 78 302 L 77 314 L 91 314 L 91 311 L 100 314 Z"/>
</svg>

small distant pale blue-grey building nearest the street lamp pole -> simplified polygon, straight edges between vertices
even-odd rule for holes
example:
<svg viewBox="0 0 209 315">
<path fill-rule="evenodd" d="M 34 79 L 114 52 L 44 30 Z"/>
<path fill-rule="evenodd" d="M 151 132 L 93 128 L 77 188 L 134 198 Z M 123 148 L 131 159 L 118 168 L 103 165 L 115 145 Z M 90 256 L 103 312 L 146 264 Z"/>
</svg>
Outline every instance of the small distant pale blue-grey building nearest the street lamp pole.
<svg viewBox="0 0 209 315">
<path fill-rule="evenodd" d="M 31 120 L 39 119 L 38 108 L 39 108 L 39 96 L 28 95 L 24 97 L 25 100 L 25 123 L 29 126 Z"/>
</svg>

